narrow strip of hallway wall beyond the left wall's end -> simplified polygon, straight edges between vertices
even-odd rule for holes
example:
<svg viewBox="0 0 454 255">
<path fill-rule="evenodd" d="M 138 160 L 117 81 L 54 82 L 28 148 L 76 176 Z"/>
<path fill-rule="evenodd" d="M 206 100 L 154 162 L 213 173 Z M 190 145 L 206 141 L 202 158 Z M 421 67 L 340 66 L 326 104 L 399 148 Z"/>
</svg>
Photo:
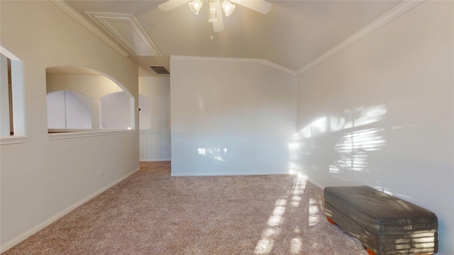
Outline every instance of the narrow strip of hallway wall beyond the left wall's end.
<svg viewBox="0 0 454 255">
<path fill-rule="evenodd" d="M 140 161 L 170 160 L 170 77 L 139 77 Z"/>
</svg>

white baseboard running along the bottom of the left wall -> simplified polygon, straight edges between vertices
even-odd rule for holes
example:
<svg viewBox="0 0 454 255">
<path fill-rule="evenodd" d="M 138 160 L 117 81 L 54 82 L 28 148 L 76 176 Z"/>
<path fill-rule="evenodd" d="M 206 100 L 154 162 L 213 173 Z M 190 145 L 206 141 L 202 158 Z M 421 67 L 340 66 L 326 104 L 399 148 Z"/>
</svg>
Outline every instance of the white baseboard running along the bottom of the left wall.
<svg viewBox="0 0 454 255">
<path fill-rule="evenodd" d="M 48 220 L 45 220 L 44 222 L 41 222 L 40 224 L 36 225 L 35 227 L 32 227 L 31 229 L 24 232 L 23 234 L 20 234 L 18 237 L 12 239 L 11 241 L 6 242 L 6 244 L 3 244 L 0 246 L 0 253 L 6 251 L 8 249 L 11 249 L 16 244 L 22 242 L 23 240 L 27 239 L 28 237 L 31 237 L 31 235 L 33 235 L 36 232 L 40 231 L 41 229 L 47 227 L 48 225 L 52 224 L 56 220 L 60 219 L 61 217 L 67 215 L 69 212 L 78 208 L 80 205 L 87 203 L 90 199 L 98 196 L 99 194 L 103 193 L 104 191 L 108 190 L 109 188 L 115 186 L 116 184 L 120 183 L 121 181 L 128 178 L 129 176 L 135 174 L 135 172 L 137 172 L 139 170 L 140 170 L 140 168 L 135 169 L 131 173 L 126 174 L 126 176 L 123 176 L 121 179 L 118 179 L 118 180 L 114 181 L 113 183 L 110 183 L 109 185 L 105 186 L 104 188 L 101 188 L 100 190 L 90 194 L 86 198 L 79 200 L 77 203 L 70 205 L 70 207 L 66 208 L 65 210 L 58 212 L 56 215 L 53 215 L 52 217 L 50 217 Z"/>
</svg>

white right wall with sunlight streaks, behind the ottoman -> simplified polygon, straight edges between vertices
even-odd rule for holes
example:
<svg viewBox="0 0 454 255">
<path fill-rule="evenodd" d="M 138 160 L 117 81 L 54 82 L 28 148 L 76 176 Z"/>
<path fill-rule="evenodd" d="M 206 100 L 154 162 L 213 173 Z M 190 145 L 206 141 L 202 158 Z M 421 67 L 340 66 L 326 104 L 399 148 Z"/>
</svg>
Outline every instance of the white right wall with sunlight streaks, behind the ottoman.
<svg viewBox="0 0 454 255">
<path fill-rule="evenodd" d="M 453 1 L 426 1 L 298 77 L 297 151 L 319 186 L 368 185 L 436 213 L 454 254 Z"/>
</svg>

